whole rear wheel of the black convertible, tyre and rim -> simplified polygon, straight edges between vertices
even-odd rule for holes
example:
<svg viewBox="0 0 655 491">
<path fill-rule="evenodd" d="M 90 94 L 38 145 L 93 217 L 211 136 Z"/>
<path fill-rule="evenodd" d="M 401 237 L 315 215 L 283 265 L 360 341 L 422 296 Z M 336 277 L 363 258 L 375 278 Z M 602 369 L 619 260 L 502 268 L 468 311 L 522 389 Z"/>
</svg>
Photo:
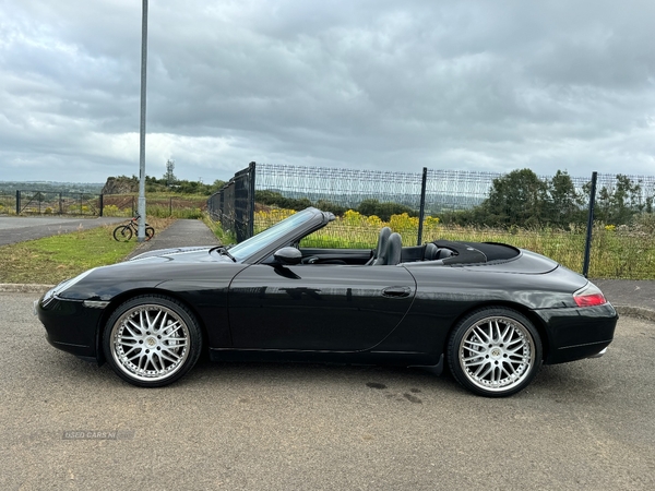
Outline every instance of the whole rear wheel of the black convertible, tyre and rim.
<svg viewBox="0 0 655 491">
<path fill-rule="evenodd" d="M 479 309 L 451 333 L 448 360 L 455 380 L 474 394 L 505 397 L 525 388 L 541 367 L 539 333 L 504 307 Z"/>
</svg>

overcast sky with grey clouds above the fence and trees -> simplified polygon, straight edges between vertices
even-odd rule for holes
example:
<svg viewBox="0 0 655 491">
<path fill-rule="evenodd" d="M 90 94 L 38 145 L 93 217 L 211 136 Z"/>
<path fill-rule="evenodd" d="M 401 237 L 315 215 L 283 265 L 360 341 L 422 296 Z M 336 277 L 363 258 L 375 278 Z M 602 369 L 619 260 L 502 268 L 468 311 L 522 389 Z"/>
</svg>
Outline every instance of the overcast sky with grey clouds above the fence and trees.
<svg viewBox="0 0 655 491">
<path fill-rule="evenodd" d="M 141 0 L 0 0 L 0 180 L 139 175 Z M 655 173 L 653 0 L 151 0 L 146 173 Z"/>
</svg>

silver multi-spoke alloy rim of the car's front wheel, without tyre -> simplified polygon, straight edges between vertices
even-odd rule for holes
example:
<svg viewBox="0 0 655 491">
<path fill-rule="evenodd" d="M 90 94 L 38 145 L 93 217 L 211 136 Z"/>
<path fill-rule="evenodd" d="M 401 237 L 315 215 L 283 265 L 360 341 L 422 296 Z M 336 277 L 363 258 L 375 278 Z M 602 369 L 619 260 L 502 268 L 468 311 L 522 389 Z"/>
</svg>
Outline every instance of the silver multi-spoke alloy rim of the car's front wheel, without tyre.
<svg viewBox="0 0 655 491">
<path fill-rule="evenodd" d="M 114 323 L 110 351 L 116 366 L 130 379 L 162 381 L 172 376 L 189 357 L 190 334 L 172 309 L 143 303 Z"/>
</svg>

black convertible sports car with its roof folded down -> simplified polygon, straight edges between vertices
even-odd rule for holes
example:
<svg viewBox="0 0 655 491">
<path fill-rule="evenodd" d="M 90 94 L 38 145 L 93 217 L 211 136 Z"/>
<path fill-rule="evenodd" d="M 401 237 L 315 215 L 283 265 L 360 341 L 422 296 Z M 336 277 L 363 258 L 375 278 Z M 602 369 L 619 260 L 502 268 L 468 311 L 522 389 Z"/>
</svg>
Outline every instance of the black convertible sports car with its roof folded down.
<svg viewBox="0 0 655 491">
<path fill-rule="evenodd" d="M 514 394 L 541 363 L 602 356 L 618 315 L 583 276 L 500 243 L 315 249 L 334 220 L 307 208 L 229 248 L 151 251 L 66 280 L 35 302 L 48 342 L 145 387 L 214 360 L 448 363 L 484 396 Z"/>
</svg>

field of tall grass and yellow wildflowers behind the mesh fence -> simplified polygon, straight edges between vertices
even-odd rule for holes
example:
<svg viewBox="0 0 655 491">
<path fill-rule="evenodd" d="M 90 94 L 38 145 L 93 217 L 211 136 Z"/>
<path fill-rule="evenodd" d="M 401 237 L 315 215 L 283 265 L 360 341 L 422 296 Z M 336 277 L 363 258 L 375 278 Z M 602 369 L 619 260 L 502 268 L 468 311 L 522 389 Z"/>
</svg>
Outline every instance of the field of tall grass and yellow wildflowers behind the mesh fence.
<svg viewBox="0 0 655 491">
<path fill-rule="evenodd" d="M 270 209 L 255 213 L 255 232 L 289 216 L 288 209 Z M 418 218 L 405 214 L 394 215 L 389 221 L 376 216 L 366 217 L 348 211 L 343 217 L 303 239 L 301 246 L 321 248 L 374 248 L 378 233 L 384 226 L 403 237 L 404 246 L 416 246 Z M 586 230 L 521 229 L 511 231 L 492 228 L 443 226 L 437 218 L 424 223 L 422 242 L 437 239 L 471 242 L 504 242 L 547 255 L 560 264 L 582 272 Z M 655 236 L 631 230 L 596 225 L 590 261 L 590 277 L 655 279 Z"/>
</svg>

